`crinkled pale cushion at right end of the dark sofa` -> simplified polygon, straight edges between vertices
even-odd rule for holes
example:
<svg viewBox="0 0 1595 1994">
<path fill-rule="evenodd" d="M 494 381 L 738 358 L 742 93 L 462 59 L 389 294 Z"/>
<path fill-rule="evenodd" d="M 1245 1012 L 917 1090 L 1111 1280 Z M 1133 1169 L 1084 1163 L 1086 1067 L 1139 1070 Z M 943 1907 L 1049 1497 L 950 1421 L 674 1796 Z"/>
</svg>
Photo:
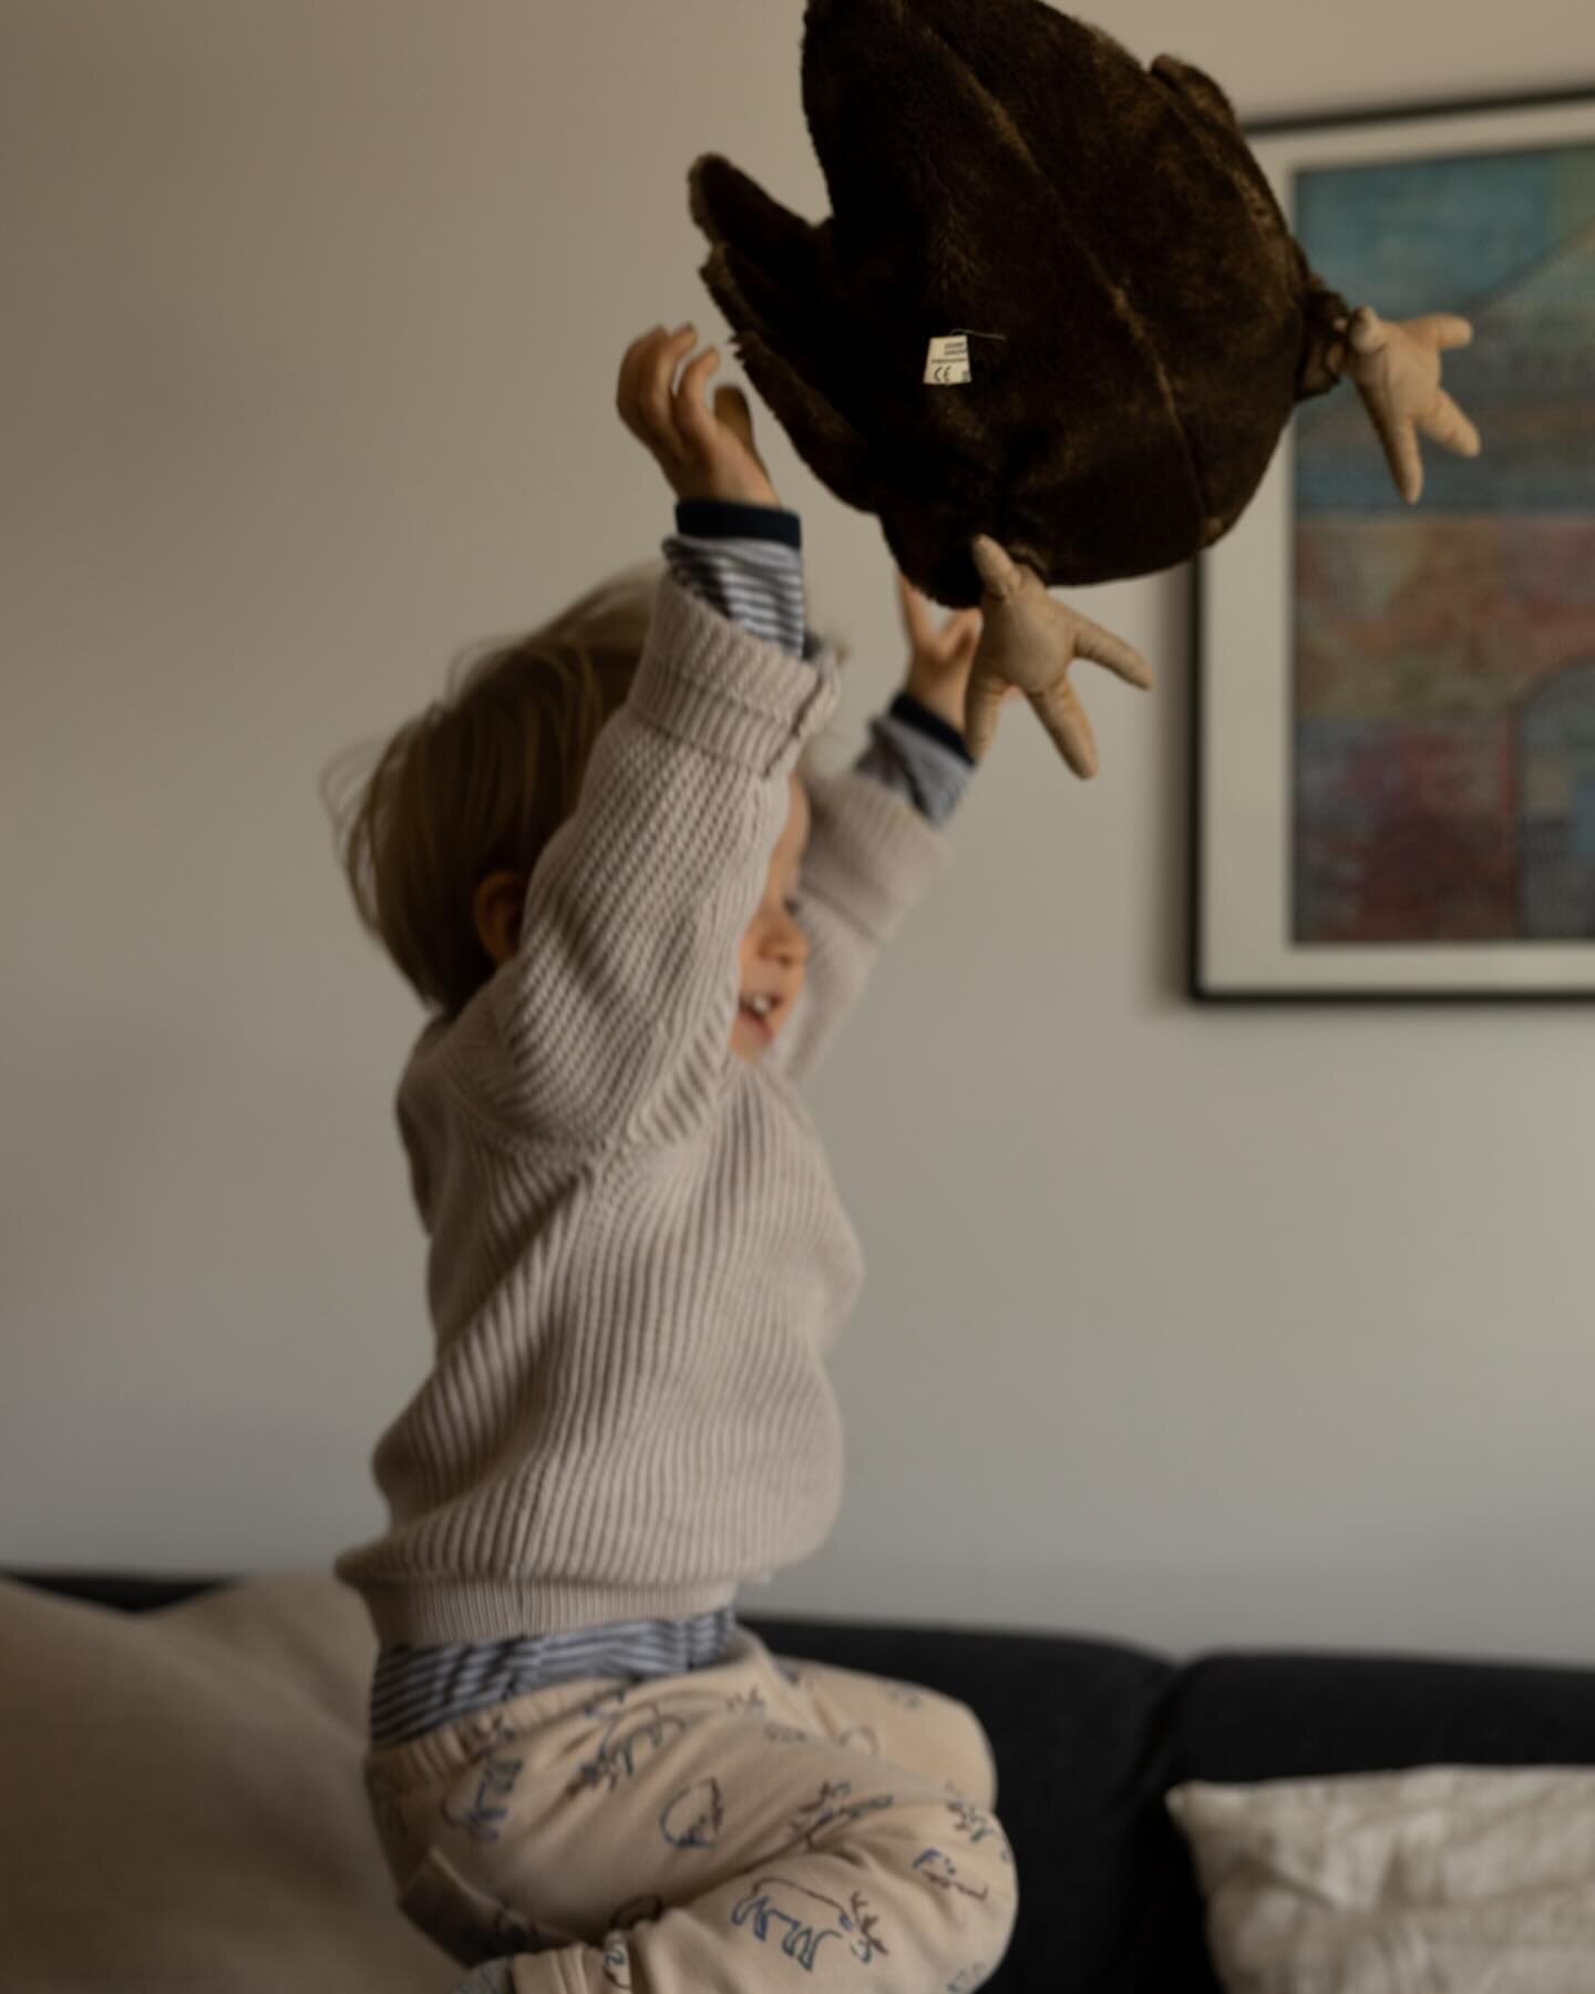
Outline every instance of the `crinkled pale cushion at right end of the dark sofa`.
<svg viewBox="0 0 1595 1994">
<path fill-rule="evenodd" d="M 1595 1769 L 1174 1787 L 1228 1994 L 1591 1994 Z"/>
</svg>

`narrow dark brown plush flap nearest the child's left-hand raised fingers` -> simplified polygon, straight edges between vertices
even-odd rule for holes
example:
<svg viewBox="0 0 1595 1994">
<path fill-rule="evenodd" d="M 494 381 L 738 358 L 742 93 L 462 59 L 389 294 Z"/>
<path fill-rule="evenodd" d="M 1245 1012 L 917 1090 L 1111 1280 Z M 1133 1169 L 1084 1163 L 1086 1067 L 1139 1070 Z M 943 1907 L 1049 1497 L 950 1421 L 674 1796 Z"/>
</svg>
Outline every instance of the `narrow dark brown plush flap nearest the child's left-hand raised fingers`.
<svg viewBox="0 0 1595 1994">
<path fill-rule="evenodd" d="M 692 219 L 714 245 L 700 275 L 732 323 L 732 343 L 803 463 L 843 504 L 877 508 L 869 447 L 829 403 L 819 367 L 807 361 L 825 323 L 819 231 L 718 154 L 688 173 Z M 798 439 L 803 439 L 798 443 Z"/>
</svg>

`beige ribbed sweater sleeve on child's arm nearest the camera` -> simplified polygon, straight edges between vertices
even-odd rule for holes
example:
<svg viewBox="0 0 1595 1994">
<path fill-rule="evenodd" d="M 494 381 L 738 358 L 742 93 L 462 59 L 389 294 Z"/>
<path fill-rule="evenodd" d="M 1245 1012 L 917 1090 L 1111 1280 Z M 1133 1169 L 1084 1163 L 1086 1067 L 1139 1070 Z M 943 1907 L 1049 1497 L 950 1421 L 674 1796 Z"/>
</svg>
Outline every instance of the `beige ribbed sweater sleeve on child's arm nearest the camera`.
<svg viewBox="0 0 1595 1994">
<path fill-rule="evenodd" d="M 738 941 L 837 692 L 831 654 L 792 658 L 660 578 L 632 692 L 532 871 L 520 945 L 447 1041 L 488 1113 L 600 1149 L 712 1113 Z"/>
</svg>

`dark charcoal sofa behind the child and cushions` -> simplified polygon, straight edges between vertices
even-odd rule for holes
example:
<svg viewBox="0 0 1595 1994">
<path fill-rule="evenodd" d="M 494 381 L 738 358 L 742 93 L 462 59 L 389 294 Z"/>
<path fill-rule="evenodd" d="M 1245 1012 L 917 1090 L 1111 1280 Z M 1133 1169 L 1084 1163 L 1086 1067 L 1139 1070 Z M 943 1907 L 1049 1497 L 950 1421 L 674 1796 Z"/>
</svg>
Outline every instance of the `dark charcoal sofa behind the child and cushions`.
<svg viewBox="0 0 1595 1994">
<path fill-rule="evenodd" d="M 193 1579 L 14 1571 L 128 1611 Z M 1595 1669 L 1396 1655 L 1210 1653 L 748 1615 L 772 1649 L 961 1697 L 997 1751 L 1021 1914 L 995 1994 L 1218 1994 L 1162 1795 L 1418 1765 L 1595 1765 Z"/>
</svg>

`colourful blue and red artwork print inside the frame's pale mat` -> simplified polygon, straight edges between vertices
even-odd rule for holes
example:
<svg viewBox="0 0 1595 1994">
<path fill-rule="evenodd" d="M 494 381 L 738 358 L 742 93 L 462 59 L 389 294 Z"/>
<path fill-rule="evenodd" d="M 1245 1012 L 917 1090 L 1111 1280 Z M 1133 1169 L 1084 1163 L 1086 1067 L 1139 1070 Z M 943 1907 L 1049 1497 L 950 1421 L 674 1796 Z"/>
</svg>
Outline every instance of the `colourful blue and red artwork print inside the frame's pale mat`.
<svg viewBox="0 0 1595 1994">
<path fill-rule="evenodd" d="M 1292 939 L 1595 937 L 1595 144 L 1294 175 L 1314 267 L 1455 309 L 1483 457 L 1404 506 L 1358 397 L 1298 411 Z"/>
</svg>

